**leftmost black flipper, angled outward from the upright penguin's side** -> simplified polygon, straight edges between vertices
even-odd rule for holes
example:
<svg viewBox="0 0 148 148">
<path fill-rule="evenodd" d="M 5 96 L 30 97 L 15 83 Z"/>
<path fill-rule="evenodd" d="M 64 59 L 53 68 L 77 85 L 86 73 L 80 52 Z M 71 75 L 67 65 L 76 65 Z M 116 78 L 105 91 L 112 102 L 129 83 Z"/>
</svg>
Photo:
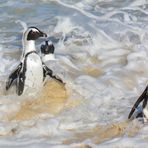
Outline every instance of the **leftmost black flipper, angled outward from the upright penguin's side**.
<svg viewBox="0 0 148 148">
<path fill-rule="evenodd" d="M 6 90 L 8 90 L 11 87 L 12 83 L 14 82 L 14 80 L 17 79 L 18 74 L 19 74 L 21 68 L 22 68 L 22 63 L 20 63 L 17 66 L 17 68 L 9 75 L 9 78 L 8 78 L 8 80 L 6 82 Z"/>
</svg>

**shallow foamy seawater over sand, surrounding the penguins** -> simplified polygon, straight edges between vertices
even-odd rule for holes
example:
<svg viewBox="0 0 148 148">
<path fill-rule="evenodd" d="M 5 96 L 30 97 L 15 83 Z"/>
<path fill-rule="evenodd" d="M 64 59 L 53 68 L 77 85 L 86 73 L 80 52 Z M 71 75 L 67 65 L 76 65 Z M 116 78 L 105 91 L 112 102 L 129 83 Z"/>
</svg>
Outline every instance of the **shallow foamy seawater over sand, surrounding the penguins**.
<svg viewBox="0 0 148 148">
<path fill-rule="evenodd" d="M 127 116 L 147 84 L 148 1 L 1 0 L 0 12 L 0 147 L 146 147 L 147 125 Z M 49 35 L 58 60 L 47 65 L 65 87 L 49 81 L 36 99 L 5 91 L 20 21 Z"/>
</svg>

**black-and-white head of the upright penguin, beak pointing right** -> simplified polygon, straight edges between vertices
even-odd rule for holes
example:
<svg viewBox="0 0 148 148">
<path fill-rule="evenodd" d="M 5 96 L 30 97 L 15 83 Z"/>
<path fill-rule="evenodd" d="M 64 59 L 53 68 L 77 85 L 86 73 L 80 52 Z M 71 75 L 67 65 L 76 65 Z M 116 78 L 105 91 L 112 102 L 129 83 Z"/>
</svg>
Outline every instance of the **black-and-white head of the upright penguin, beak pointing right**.
<svg viewBox="0 0 148 148">
<path fill-rule="evenodd" d="M 24 33 L 24 39 L 26 41 L 35 41 L 40 37 L 47 37 L 47 34 L 36 27 L 29 27 Z"/>
</svg>

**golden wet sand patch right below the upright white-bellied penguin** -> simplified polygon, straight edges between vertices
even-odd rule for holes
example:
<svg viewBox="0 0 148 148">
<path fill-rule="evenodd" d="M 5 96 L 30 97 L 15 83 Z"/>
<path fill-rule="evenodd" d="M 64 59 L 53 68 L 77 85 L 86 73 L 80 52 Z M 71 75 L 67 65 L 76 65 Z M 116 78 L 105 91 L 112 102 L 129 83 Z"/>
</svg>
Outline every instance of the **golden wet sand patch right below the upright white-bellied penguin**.
<svg viewBox="0 0 148 148">
<path fill-rule="evenodd" d="M 51 80 L 48 81 L 37 98 L 26 100 L 21 109 L 11 120 L 26 120 L 44 113 L 57 114 L 63 108 L 67 94 L 64 85 Z"/>
</svg>

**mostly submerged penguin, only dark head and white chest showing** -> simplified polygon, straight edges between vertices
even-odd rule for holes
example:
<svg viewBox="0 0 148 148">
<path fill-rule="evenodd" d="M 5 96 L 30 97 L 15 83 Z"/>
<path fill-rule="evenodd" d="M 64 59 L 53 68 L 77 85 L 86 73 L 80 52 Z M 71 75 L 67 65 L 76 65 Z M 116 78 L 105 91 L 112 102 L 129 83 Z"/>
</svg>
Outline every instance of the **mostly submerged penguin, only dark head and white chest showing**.
<svg viewBox="0 0 148 148">
<path fill-rule="evenodd" d="M 44 62 L 49 61 L 49 60 L 56 60 L 54 56 L 54 50 L 55 47 L 54 45 L 48 40 L 45 41 L 45 45 L 41 45 L 41 56 L 42 60 Z"/>
</svg>

